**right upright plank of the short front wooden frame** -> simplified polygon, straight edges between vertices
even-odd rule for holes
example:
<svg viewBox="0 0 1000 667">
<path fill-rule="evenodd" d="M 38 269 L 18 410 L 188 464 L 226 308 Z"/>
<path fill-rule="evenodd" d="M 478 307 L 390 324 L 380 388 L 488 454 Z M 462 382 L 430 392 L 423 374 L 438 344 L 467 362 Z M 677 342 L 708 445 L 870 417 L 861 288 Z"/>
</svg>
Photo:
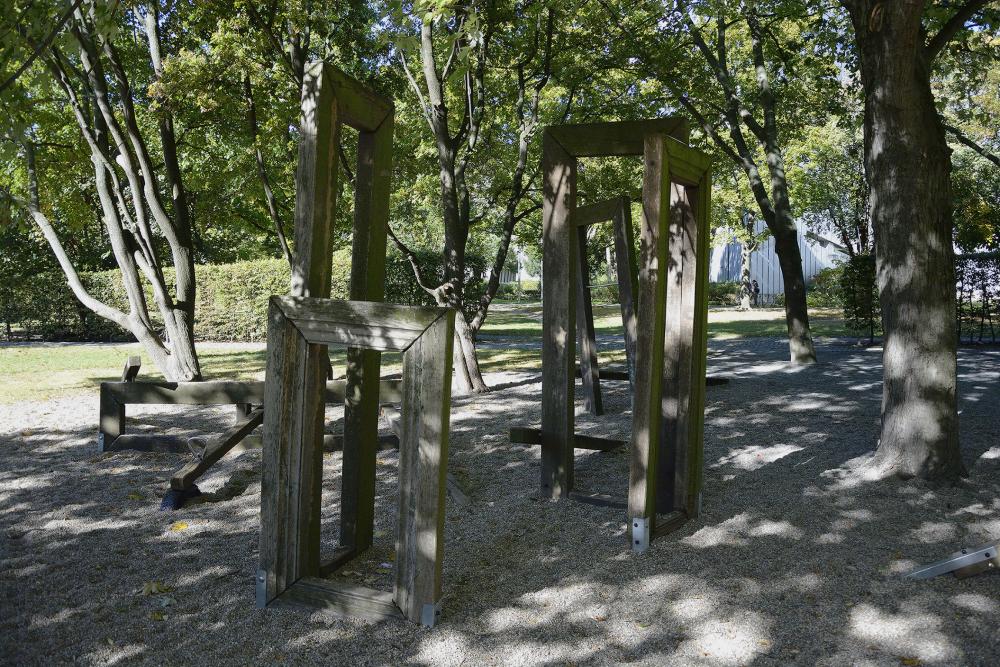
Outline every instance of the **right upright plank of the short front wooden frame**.
<svg viewBox="0 0 1000 667">
<path fill-rule="evenodd" d="M 399 535 L 393 598 L 413 622 L 433 625 L 441 599 L 455 311 L 403 355 Z"/>
</svg>

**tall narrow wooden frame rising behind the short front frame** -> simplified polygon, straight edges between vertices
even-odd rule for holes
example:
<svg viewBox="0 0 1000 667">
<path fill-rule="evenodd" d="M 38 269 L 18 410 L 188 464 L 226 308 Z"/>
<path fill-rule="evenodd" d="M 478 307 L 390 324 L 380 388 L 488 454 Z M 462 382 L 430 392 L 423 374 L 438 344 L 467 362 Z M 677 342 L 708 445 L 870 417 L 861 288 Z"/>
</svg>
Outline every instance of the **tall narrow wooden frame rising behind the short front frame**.
<svg viewBox="0 0 1000 667">
<path fill-rule="evenodd" d="M 341 130 L 347 125 L 358 131 L 350 298 L 382 301 L 393 122 L 391 100 L 332 65 L 321 61 L 307 65 L 295 183 L 292 296 L 330 296 L 331 241 L 339 192 L 337 160 Z M 340 535 L 341 543 L 357 552 L 372 544 L 380 365 L 378 351 L 347 350 Z M 310 376 L 310 382 L 318 382 L 324 368 L 325 364 L 320 364 L 302 372 Z"/>
</svg>

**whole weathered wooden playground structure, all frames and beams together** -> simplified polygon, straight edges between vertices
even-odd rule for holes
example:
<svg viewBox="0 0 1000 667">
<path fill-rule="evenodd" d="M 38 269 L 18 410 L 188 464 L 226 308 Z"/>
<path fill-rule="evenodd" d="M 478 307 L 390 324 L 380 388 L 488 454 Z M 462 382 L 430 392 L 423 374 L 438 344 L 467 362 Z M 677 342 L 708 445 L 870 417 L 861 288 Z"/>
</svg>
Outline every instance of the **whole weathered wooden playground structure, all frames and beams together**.
<svg viewBox="0 0 1000 667">
<path fill-rule="evenodd" d="M 321 62 L 306 70 L 296 172 L 295 248 L 289 296 L 268 314 L 264 382 L 136 382 L 138 362 L 101 388 L 102 450 L 151 448 L 124 434 L 125 405 L 232 404 L 237 421 L 194 452 L 171 480 L 177 492 L 263 425 L 259 606 L 292 603 L 345 616 L 404 617 L 432 626 L 441 613 L 452 352 L 456 313 L 381 303 L 392 167 L 393 104 Z M 337 210 L 337 147 L 358 130 L 350 300 L 330 299 L 330 239 Z M 635 551 L 697 516 L 701 498 L 705 388 L 708 158 L 686 146 L 680 118 L 545 129 L 544 313 L 541 429 L 511 440 L 540 444 L 542 494 L 628 509 Z M 576 207 L 577 160 L 641 155 L 645 164 L 641 254 L 630 202 Z M 612 221 L 633 388 L 631 442 L 574 432 L 575 329 L 587 408 L 603 412 L 587 226 Z M 329 345 L 347 347 L 343 381 L 328 381 Z M 401 352 L 402 380 L 380 378 L 381 353 Z M 320 549 L 324 414 L 344 404 L 339 545 Z M 327 577 L 372 545 L 380 404 L 401 403 L 399 522 L 392 592 Z M 145 440 L 144 440 L 145 438 Z M 573 488 L 577 448 L 630 445 L 629 494 L 614 499 Z"/>
</svg>

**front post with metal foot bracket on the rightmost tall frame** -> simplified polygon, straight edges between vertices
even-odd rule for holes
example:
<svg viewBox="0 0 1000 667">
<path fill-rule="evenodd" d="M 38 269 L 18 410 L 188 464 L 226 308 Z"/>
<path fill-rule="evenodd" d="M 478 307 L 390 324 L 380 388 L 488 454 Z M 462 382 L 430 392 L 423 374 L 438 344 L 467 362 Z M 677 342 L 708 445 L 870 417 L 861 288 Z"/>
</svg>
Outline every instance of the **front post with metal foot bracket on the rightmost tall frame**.
<svg viewBox="0 0 1000 667">
<path fill-rule="evenodd" d="M 629 462 L 629 540 L 635 519 L 652 524 L 655 474 L 660 441 L 663 380 L 663 334 L 667 272 L 666 220 L 670 180 L 662 136 L 645 140 L 643 216 L 636 327 L 636 377 L 632 399 L 632 442 Z"/>
</svg>

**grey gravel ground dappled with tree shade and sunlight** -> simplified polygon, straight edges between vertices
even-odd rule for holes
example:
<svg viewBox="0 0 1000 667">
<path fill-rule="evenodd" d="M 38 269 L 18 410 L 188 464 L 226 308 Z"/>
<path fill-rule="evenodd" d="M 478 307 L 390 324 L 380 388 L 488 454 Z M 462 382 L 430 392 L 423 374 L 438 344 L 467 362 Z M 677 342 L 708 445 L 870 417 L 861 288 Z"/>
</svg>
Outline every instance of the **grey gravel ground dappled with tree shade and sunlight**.
<svg viewBox="0 0 1000 667">
<path fill-rule="evenodd" d="M 958 487 L 875 481 L 879 350 L 828 341 L 790 368 L 777 340 L 713 343 L 704 514 L 628 549 L 617 510 L 538 498 L 535 372 L 457 398 L 441 623 L 254 606 L 260 453 L 224 459 L 207 500 L 160 512 L 180 454 L 95 452 L 97 395 L 0 408 L 0 662 L 325 665 L 996 665 L 1000 575 L 900 577 L 1000 541 L 1000 352 L 960 355 Z M 578 430 L 627 437 L 627 385 Z M 195 433 L 231 409 L 133 408 L 130 429 Z M 336 417 L 331 411 L 331 419 Z M 182 428 L 181 428 L 182 427 Z M 340 455 L 326 461 L 336 544 Z M 624 452 L 577 455 L 577 485 L 623 495 Z M 397 456 L 379 455 L 377 544 L 348 577 L 388 586 Z M 155 585 L 154 585 L 155 584 Z M 154 589 L 154 594 L 143 595 Z M 156 592 L 162 591 L 162 592 Z"/>
</svg>

